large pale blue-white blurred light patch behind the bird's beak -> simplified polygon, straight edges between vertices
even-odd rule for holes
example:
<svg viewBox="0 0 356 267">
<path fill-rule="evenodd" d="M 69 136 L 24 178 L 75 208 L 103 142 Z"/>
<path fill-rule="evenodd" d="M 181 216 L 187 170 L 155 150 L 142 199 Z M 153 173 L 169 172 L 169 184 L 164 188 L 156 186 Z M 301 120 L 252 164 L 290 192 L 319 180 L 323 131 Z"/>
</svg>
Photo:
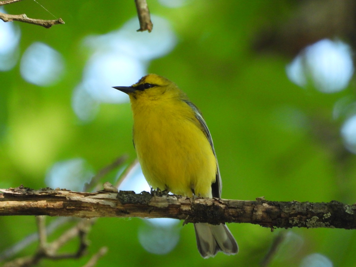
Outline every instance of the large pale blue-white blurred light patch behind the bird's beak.
<svg viewBox="0 0 356 267">
<path fill-rule="evenodd" d="M 113 86 L 130 86 L 147 74 L 148 64 L 152 59 L 162 57 L 171 52 L 177 43 L 176 35 L 166 19 L 151 16 L 155 30 L 151 33 L 136 32 L 137 18 L 127 21 L 119 30 L 104 35 L 88 36 L 83 45 L 92 49 L 92 53 L 83 70 L 83 80 L 73 91 L 78 95 L 78 87 L 87 91 L 98 103 L 123 103 L 129 101 L 124 93 Z M 73 96 L 72 99 L 78 99 Z M 89 103 L 89 101 L 87 101 Z M 72 101 L 72 107 L 81 121 L 93 119 L 98 107 L 86 106 L 88 114 L 84 114 L 83 105 Z M 91 114 L 91 115 L 90 115 Z M 88 119 L 90 117 L 90 119 Z"/>
</svg>

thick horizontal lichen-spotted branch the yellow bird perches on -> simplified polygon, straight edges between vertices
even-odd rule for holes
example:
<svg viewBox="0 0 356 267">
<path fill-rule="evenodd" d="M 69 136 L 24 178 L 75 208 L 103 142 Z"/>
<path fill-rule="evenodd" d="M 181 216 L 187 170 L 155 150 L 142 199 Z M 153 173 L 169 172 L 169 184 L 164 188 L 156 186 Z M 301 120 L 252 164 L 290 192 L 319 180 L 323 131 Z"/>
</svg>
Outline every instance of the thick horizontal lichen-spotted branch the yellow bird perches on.
<svg viewBox="0 0 356 267">
<path fill-rule="evenodd" d="M 251 223 L 263 227 L 327 227 L 356 229 L 356 205 L 338 201 L 190 199 L 178 195 L 72 192 L 43 188 L 0 189 L 0 215 L 175 218 L 184 223 Z"/>
</svg>

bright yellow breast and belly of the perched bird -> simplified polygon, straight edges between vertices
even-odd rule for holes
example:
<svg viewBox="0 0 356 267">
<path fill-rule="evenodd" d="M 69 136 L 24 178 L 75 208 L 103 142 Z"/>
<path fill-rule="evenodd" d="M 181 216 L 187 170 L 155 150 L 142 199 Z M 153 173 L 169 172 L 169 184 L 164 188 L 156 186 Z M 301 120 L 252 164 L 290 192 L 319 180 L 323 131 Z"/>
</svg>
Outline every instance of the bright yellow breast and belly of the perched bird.
<svg viewBox="0 0 356 267">
<path fill-rule="evenodd" d="M 146 110 L 144 116 L 134 116 L 133 132 L 143 175 L 153 189 L 211 197 L 216 159 L 196 123 L 177 114 L 157 116 Z"/>
</svg>

